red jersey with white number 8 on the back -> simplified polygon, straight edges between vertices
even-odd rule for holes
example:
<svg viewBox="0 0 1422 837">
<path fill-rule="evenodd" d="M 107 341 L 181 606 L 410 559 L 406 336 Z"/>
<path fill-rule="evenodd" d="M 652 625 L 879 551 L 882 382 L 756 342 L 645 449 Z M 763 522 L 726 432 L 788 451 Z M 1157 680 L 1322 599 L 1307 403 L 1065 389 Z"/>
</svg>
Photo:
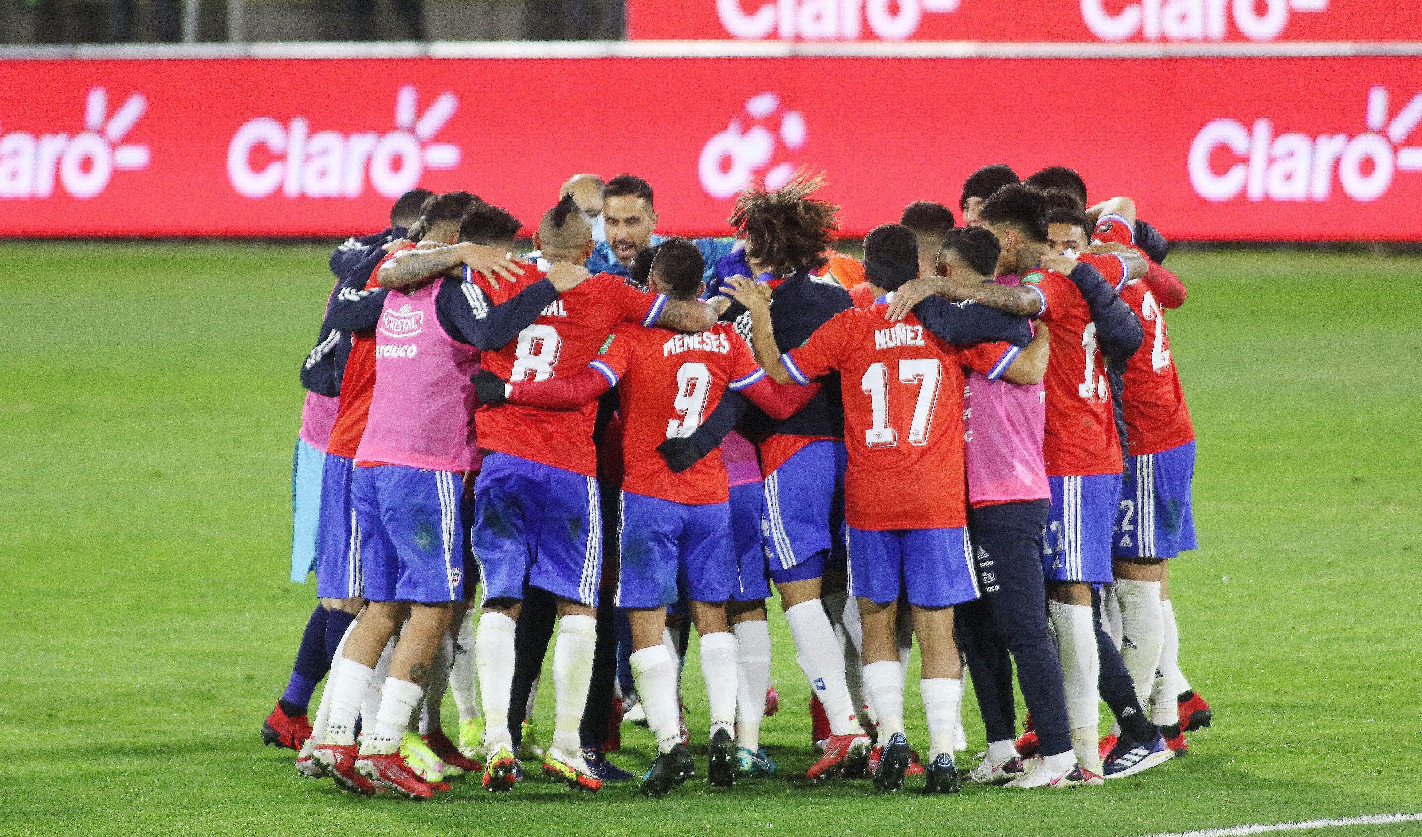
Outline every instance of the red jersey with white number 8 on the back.
<svg viewBox="0 0 1422 837">
<path fill-rule="evenodd" d="M 499 286 L 475 273 L 474 281 L 493 304 L 503 303 L 543 279 L 535 266 L 523 269 L 518 281 Z M 648 294 L 610 273 L 583 281 L 553 300 L 532 325 L 498 351 L 483 352 L 483 368 L 506 381 L 547 381 L 587 367 L 619 323 L 651 325 L 661 315 L 667 297 Z M 597 402 L 574 412 L 501 404 L 474 414 L 479 446 L 542 462 L 553 468 L 597 476 L 593 423 Z"/>
</svg>

